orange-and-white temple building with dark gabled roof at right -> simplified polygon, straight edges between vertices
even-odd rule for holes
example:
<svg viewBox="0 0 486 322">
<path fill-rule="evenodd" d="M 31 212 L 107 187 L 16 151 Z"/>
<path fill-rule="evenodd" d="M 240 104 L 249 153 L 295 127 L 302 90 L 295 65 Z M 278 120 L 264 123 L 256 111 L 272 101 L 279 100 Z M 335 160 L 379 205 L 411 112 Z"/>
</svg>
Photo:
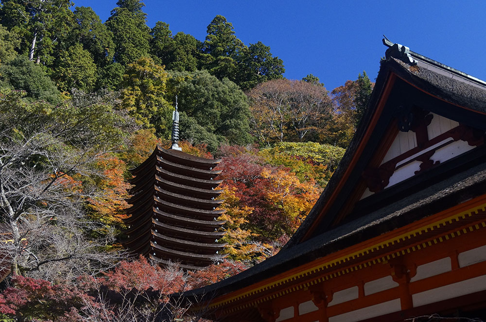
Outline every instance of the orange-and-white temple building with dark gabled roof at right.
<svg viewBox="0 0 486 322">
<path fill-rule="evenodd" d="M 218 322 L 486 321 L 486 82 L 383 43 L 368 109 L 291 240 L 174 298 Z"/>
</svg>

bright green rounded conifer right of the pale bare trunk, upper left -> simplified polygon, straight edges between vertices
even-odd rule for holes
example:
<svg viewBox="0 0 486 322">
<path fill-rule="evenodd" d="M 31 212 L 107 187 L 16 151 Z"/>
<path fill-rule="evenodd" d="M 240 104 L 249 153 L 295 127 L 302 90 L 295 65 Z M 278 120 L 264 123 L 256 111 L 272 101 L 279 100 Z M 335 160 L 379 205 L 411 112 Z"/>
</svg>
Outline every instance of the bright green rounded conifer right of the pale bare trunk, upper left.
<svg viewBox="0 0 486 322">
<path fill-rule="evenodd" d="M 61 91 L 70 92 L 77 88 L 90 91 L 96 81 L 96 64 L 83 45 L 75 44 L 59 54 L 52 78 Z"/>
</svg>

